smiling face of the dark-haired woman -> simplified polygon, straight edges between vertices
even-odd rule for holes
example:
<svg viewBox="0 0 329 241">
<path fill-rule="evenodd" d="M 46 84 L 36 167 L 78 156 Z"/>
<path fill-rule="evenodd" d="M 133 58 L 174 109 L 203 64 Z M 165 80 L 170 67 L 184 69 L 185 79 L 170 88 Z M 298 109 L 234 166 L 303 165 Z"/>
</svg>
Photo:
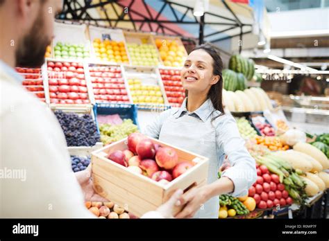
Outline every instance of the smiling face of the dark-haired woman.
<svg viewBox="0 0 329 241">
<path fill-rule="evenodd" d="M 189 53 L 180 71 L 184 89 L 208 93 L 212 84 L 216 84 L 219 79 L 213 75 L 212 63 L 212 57 L 202 49 Z"/>
</svg>

